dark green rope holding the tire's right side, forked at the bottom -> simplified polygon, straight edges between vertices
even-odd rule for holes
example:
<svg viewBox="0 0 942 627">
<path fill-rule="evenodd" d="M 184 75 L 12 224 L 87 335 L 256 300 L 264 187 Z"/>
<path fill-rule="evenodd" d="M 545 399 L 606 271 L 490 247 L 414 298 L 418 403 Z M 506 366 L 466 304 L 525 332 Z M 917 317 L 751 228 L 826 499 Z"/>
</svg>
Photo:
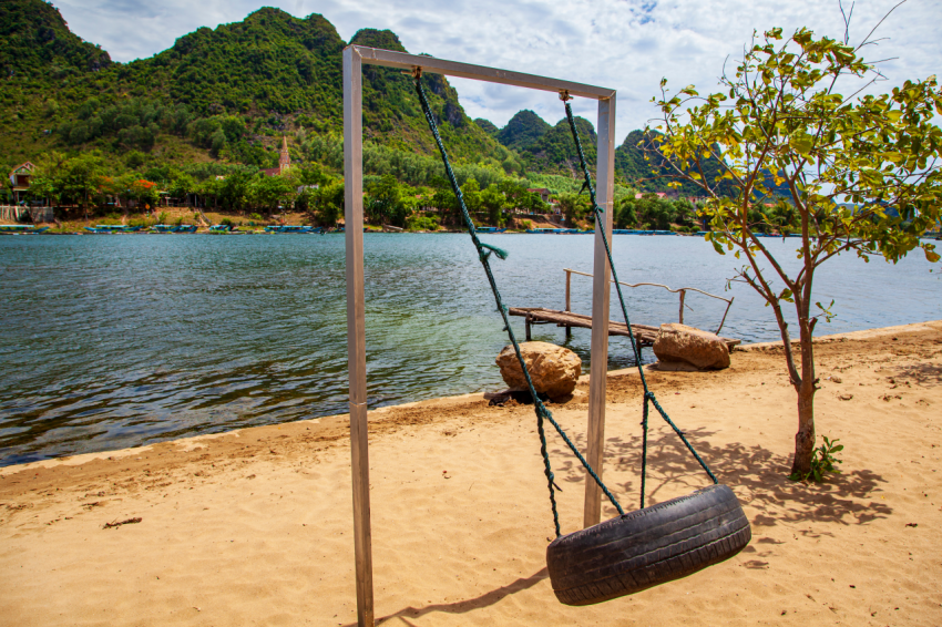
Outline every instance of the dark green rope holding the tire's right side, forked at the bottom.
<svg viewBox="0 0 942 627">
<path fill-rule="evenodd" d="M 618 302 L 622 306 L 622 316 L 625 318 L 625 327 L 628 329 L 628 338 L 632 340 L 632 350 L 635 353 L 635 364 L 638 369 L 638 374 L 641 376 L 641 382 L 644 387 L 644 418 L 642 419 L 642 462 L 641 462 L 641 507 L 644 510 L 644 482 L 645 474 L 647 471 L 647 413 L 648 413 L 648 403 L 654 404 L 654 409 L 661 414 L 661 417 L 674 429 L 674 432 L 680 438 L 680 441 L 687 445 L 687 449 L 690 453 L 694 454 L 694 459 L 699 462 L 700 466 L 706 471 L 709 477 L 714 483 L 719 483 L 716 479 L 716 475 L 713 474 L 713 471 L 709 470 L 709 466 L 706 462 L 700 459 L 697 451 L 694 446 L 687 441 L 687 438 L 684 435 L 684 432 L 680 431 L 676 424 L 670 420 L 667 415 L 667 412 L 661 407 L 661 403 L 657 402 L 657 398 L 654 395 L 654 392 L 648 390 L 647 380 L 644 377 L 644 368 L 641 362 L 641 348 L 638 347 L 637 341 L 635 340 L 635 333 L 632 330 L 632 325 L 628 320 L 628 309 L 625 307 L 625 297 L 622 295 L 622 285 L 618 282 L 618 274 L 615 271 L 615 263 L 612 260 L 612 248 L 608 246 L 608 237 L 605 235 L 605 222 L 602 217 L 603 209 L 598 206 L 598 203 L 595 199 L 595 187 L 592 185 L 592 176 L 588 174 L 588 166 L 585 163 L 585 153 L 582 150 L 582 141 L 578 138 L 578 130 L 575 127 L 575 120 L 573 120 L 572 115 L 572 106 L 570 106 L 570 96 L 567 93 L 561 93 L 560 99 L 566 106 L 566 119 L 570 122 L 570 130 L 572 131 L 573 140 L 575 140 L 575 147 L 578 152 L 578 163 L 582 166 L 582 173 L 585 178 L 585 183 L 583 183 L 582 188 L 588 189 L 588 199 L 592 203 L 592 213 L 595 216 L 595 228 L 602 234 L 602 241 L 605 244 L 605 254 L 608 256 L 608 267 L 612 268 L 612 279 L 615 281 L 615 291 L 618 292 Z M 582 194 L 582 192 L 580 192 Z"/>
</svg>

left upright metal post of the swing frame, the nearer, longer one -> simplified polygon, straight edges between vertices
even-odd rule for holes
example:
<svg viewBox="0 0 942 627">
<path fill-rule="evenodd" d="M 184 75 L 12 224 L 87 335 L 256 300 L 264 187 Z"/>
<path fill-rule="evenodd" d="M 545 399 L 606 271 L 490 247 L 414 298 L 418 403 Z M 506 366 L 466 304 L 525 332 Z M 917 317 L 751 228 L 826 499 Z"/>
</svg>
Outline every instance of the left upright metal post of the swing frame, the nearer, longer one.
<svg viewBox="0 0 942 627">
<path fill-rule="evenodd" d="M 361 60 L 354 48 L 347 48 L 344 50 L 344 220 L 347 251 L 347 354 L 350 369 L 350 464 L 354 484 L 357 624 L 360 627 L 373 627 L 364 296 L 362 123 Z"/>
</svg>

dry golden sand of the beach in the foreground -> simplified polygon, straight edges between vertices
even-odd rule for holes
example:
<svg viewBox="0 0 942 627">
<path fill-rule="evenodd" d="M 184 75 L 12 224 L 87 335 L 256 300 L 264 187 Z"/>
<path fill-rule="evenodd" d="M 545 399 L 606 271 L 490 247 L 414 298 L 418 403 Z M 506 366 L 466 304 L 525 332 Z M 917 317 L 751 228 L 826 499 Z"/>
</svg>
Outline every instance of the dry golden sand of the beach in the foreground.
<svg viewBox="0 0 942 627">
<path fill-rule="evenodd" d="M 847 445 L 822 485 L 785 476 L 797 418 L 780 346 L 721 372 L 651 372 L 752 542 L 583 608 L 556 603 L 546 577 L 531 408 L 478 394 L 371 412 L 379 623 L 942 625 L 942 322 L 822 339 L 818 363 L 818 431 Z M 605 477 L 634 507 L 637 377 L 608 388 Z M 554 409 L 580 442 L 585 390 Z M 0 624 L 355 624 L 347 436 L 337 417 L 0 470 Z M 583 473 L 559 440 L 552 452 L 575 531 Z M 655 502 L 707 484 L 663 424 L 649 461 Z"/>
</svg>

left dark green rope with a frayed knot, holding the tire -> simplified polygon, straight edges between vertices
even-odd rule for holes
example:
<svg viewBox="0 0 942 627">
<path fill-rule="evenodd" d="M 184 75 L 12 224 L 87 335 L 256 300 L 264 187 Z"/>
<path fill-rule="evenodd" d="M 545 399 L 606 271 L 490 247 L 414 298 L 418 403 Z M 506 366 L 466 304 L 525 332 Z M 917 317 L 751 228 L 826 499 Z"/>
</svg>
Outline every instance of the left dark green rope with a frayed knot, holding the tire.
<svg viewBox="0 0 942 627">
<path fill-rule="evenodd" d="M 461 208 L 461 215 L 464 218 L 464 224 L 468 226 L 468 234 L 471 235 L 471 241 L 474 243 L 474 247 L 478 249 L 478 258 L 481 260 L 481 265 L 484 266 L 484 274 L 488 276 L 488 282 L 491 285 L 491 291 L 494 294 L 494 301 L 498 306 L 498 311 L 500 311 L 501 317 L 504 321 L 504 330 L 508 332 L 508 337 L 510 338 L 510 342 L 513 345 L 513 350 L 516 353 L 516 359 L 520 362 L 520 367 L 523 370 L 523 377 L 526 380 L 526 387 L 530 389 L 530 394 L 533 397 L 533 407 L 536 413 L 536 431 L 540 435 L 540 454 L 543 455 L 543 474 L 546 475 L 546 484 L 550 489 L 550 506 L 553 510 L 553 524 L 556 528 L 556 537 L 560 537 L 560 515 L 556 508 L 556 495 L 555 490 L 559 487 L 554 483 L 555 475 L 553 474 L 553 469 L 550 465 L 550 454 L 546 451 L 546 434 L 543 428 L 543 421 L 546 420 L 550 424 L 553 425 L 553 429 L 556 430 L 556 433 L 563 439 L 563 442 L 570 448 L 570 450 L 575 454 L 582 465 L 585 467 L 586 472 L 588 472 L 590 476 L 595 480 L 595 483 L 598 484 L 598 487 L 602 489 L 602 492 L 605 493 L 605 496 L 608 497 L 608 501 L 612 502 L 612 505 L 618 511 L 618 514 L 624 515 L 624 510 L 618 504 L 618 501 L 612 494 L 612 492 L 602 483 L 602 480 L 592 469 L 585 458 L 582 456 L 582 453 L 578 452 L 578 449 L 575 444 L 573 444 L 572 440 L 570 440 L 566 432 L 563 431 L 563 428 L 553 419 L 553 414 L 543 404 L 543 401 L 536 395 L 536 389 L 533 387 L 533 380 L 530 378 L 530 371 L 526 368 L 526 362 L 523 360 L 523 354 L 520 352 L 520 345 L 516 341 L 516 337 L 513 335 L 513 329 L 510 326 L 510 319 L 508 318 L 508 308 L 503 304 L 501 299 L 501 292 L 498 289 L 498 284 L 494 280 L 494 275 L 491 273 L 491 264 L 490 256 L 491 253 L 496 255 L 501 259 L 506 258 L 506 251 L 491 246 L 489 244 L 483 244 L 478 238 L 478 232 L 474 229 L 474 220 L 471 219 L 471 214 L 468 213 L 468 207 L 464 205 L 464 196 L 461 193 L 461 187 L 458 185 L 458 178 L 454 176 L 454 172 L 451 168 L 451 163 L 448 158 L 448 153 L 444 150 L 444 144 L 442 144 L 441 136 L 438 132 L 438 124 L 436 123 L 434 115 L 432 115 L 431 107 L 429 106 L 429 101 L 426 97 L 426 91 L 422 89 L 422 80 L 421 72 L 416 72 L 416 92 L 419 94 L 419 102 L 422 105 L 422 112 L 426 114 L 426 120 L 429 123 L 429 129 L 434 135 L 436 144 L 438 145 L 438 150 L 441 153 L 441 160 L 444 163 L 444 172 L 448 175 L 448 179 L 451 183 L 451 188 L 454 192 L 454 196 L 458 198 L 458 205 Z M 487 250 L 487 251 L 485 251 Z"/>
</svg>

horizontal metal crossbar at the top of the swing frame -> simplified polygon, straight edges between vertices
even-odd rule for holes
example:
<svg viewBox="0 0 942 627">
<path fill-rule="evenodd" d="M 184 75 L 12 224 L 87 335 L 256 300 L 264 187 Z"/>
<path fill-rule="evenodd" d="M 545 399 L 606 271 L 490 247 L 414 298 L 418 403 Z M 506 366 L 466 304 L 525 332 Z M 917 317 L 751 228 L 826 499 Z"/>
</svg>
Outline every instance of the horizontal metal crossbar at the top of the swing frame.
<svg viewBox="0 0 942 627">
<path fill-rule="evenodd" d="M 536 76 L 534 74 L 522 74 L 520 72 L 510 72 L 508 70 L 485 68 L 483 65 L 471 65 L 469 63 L 459 63 L 457 61 L 446 61 L 442 59 L 436 59 L 434 56 L 420 56 L 418 54 L 406 54 L 403 52 L 366 48 L 364 45 L 350 45 L 349 48 L 354 49 L 364 63 L 370 63 L 372 65 L 399 68 L 400 70 L 421 68 L 422 72 L 431 72 L 433 74 L 446 74 L 448 76 L 458 76 L 461 79 L 474 79 L 477 81 L 516 85 L 519 88 L 529 88 L 532 90 L 542 90 L 553 93 L 567 91 L 570 95 L 590 97 L 593 100 L 607 100 L 615 95 L 615 90 L 610 90 L 607 88 L 596 88 L 594 85 L 560 81 L 557 79 L 547 79 L 545 76 Z"/>
</svg>

